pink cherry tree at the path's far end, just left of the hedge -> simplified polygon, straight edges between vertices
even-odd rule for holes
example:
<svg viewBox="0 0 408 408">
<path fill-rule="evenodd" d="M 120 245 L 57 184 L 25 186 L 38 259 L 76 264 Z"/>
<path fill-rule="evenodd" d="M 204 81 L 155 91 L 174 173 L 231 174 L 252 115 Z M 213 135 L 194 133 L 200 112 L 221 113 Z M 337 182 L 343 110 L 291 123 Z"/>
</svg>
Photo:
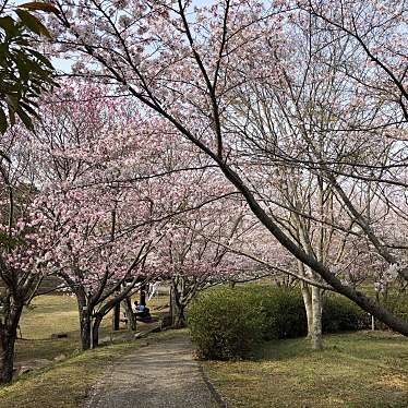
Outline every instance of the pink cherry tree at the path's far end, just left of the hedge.
<svg viewBox="0 0 408 408">
<path fill-rule="evenodd" d="M 194 183 L 194 188 L 200 189 L 201 194 L 211 195 L 215 191 L 205 192 L 206 185 L 211 185 L 206 183 L 207 178 L 208 175 L 201 177 L 201 183 Z M 191 193 L 187 197 L 190 202 L 194 199 L 196 196 Z M 156 252 L 171 281 L 175 327 L 185 326 L 185 309 L 201 290 L 247 276 L 265 276 L 262 265 L 238 252 L 241 241 L 250 239 L 251 226 L 243 223 L 247 214 L 248 208 L 240 201 L 233 202 L 232 196 L 175 216 L 169 221 L 169 230 Z M 231 245 L 233 252 L 229 251 Z"/>
</svg>

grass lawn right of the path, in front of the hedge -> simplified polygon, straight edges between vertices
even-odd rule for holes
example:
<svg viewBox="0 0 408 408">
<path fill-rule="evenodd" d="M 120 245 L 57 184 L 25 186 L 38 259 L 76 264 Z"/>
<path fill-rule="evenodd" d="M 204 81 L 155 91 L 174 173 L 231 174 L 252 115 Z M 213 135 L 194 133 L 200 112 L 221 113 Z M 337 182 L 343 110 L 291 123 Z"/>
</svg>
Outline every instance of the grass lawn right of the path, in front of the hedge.
<svg viewBox="0 0 408 408">
<path fill-rule="evenodd" d="M 408 407 L 408 339 L 387 332 L 271 341 L 248 361 L 207 361 L 228 407 Z"/>
</svg>

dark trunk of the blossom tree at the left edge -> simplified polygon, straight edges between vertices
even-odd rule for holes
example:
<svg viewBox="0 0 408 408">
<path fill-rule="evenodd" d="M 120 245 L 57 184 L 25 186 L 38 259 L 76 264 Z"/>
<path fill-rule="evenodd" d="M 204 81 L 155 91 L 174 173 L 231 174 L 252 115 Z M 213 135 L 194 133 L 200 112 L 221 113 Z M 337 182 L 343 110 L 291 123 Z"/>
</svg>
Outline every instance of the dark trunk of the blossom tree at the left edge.
<svg viewBox="0 0 408 408">
<path fill-rule="evenodd" d="M 11 383 L 14 368 L 14 346 L 23 302 L 4 308 L 4 321 L 0 323 L 0 384 Z"/>
</svg>

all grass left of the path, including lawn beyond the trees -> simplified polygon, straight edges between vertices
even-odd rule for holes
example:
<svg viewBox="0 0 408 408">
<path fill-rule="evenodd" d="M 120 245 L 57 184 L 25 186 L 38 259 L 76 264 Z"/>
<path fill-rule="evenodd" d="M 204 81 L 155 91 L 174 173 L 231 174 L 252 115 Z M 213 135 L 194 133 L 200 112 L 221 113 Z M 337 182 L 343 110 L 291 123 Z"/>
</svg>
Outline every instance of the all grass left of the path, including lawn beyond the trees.
<svg viewBox="0 0 408 408">
<path fill-rule="evenodd" d="M 148 302 L 152 314 L 154 308 L 168 302 L 163 296 Z M 23 312 L 21 320 L 23 339 L 16 343 L 15 367 L 23 363 L 35 367 L 35 361 L 46 359 L 47 367 L 19 376 L 12 385 L 0 387 L 0 407 L 8 408 L 56 408 L 79 407 L 92 385 L 109 368 L 112 360 L 125 358 L 131 349 L 147 343 L 159 341 L 175 335 L 187 335 L 164 332 L 152 334 L 148 339 L 123 341 L 132 335 L 124 329 L 112 335 L 113 344 L 95 350 L 80 352 L 79 312 L 76 300 L 70 296 L 47 295 L 35 298 L 32 307 Z M 148 325 L 137 322 L 137 329 Z M 68 338 L 51 339 L 53 333 L 67 333 Z M 111 319 L 106 316 L 100 329 L 100 338 L 111 335 Z M 64 355 L 63 361 L 51 361 Z M 43 364 L 41 365 L 46 365 Z"/>
</svg>

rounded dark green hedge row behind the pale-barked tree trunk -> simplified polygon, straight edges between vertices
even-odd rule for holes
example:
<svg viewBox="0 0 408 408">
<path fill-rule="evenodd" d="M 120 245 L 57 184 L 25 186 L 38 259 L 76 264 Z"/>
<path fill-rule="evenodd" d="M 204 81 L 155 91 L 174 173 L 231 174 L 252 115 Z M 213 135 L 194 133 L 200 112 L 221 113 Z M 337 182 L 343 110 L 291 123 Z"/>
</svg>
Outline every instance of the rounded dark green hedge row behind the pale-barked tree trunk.
<svg viewBox="0 0 408 408">
<path fill-rule="evenodd" d="M 323 331 L 367 327 L 367 314 L 340 297 L 325 299 Z M 189 310 L 191 336 L 203 359 L 244 357 L 257 343 L 307 335 L 301 293 L 278 287 L 248 285 L 203 291 Z"/>
</svg>

